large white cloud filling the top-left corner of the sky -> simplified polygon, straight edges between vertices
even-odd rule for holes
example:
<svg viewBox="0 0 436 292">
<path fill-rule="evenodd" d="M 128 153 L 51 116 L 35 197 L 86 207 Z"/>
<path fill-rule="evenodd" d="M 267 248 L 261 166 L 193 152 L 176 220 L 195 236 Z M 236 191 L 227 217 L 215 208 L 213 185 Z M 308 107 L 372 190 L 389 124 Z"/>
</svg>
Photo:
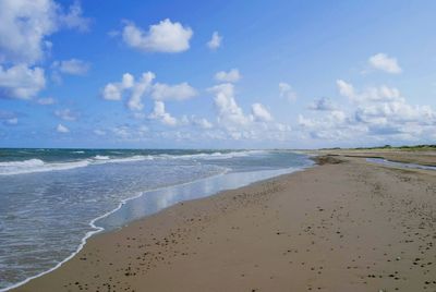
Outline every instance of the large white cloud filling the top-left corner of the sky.
<svg viewBox="0 0 436 292">
<path fill-rule="evenodd" d="M 78 3 L 64 13 L 52 0 L 0 1 L 0 62 L 28 63 L 40 61 L 51 42 L 47 37 L 62 27 L 83 29 L 88 20 L 82 17 Z"/>
</svg>

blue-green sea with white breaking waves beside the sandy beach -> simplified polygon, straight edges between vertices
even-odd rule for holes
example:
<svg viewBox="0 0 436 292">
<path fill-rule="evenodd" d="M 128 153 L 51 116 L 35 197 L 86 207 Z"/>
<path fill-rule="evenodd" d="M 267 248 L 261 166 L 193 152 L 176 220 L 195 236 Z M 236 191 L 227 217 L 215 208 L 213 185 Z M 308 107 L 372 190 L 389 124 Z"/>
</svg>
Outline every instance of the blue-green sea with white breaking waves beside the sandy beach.
<svg viewBox="0 0 436 292">
<path fill-rule="evenodd" d="M 312 165 L 284 150 L 0 149 L 0 291 L 94 233 Z"/>
</svg>

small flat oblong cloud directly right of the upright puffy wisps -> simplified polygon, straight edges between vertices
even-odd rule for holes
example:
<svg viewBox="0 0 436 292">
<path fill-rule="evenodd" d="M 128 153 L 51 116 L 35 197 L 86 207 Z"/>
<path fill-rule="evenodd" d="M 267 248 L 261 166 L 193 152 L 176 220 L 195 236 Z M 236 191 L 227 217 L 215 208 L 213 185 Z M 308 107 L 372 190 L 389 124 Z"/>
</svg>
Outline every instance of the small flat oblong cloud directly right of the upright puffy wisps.
<svg viewBox="0 0 436 292">
<path fill-rule="evenodd" d="M 190 99 L 197 95 L 195 88 L 189 85 L 186 82 L 167 85 L 162 83 L 156 83 L 153 85 L 152 97 L 157 100 L 184 100 Z"/>
</svg>

